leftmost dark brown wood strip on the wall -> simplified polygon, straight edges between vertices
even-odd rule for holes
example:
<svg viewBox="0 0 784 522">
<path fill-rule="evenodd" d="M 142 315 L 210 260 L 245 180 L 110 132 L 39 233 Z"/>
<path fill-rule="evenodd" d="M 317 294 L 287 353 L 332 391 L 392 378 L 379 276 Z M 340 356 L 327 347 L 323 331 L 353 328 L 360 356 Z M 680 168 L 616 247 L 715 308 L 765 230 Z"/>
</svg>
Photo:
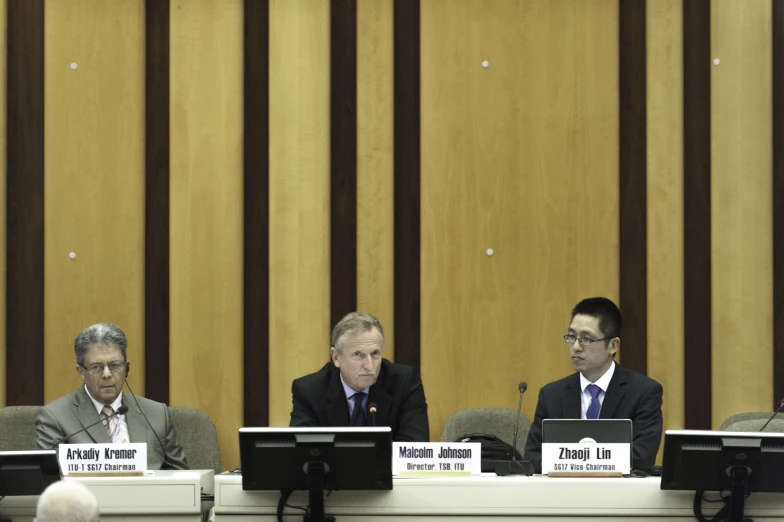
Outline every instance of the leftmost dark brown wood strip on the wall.
<svg viewBox="0 0 784 522">
<path fill-rule="evenodd" d="M 6 404 L 44 401 L 44 0 L 8 0 Z"/>
</svg>

